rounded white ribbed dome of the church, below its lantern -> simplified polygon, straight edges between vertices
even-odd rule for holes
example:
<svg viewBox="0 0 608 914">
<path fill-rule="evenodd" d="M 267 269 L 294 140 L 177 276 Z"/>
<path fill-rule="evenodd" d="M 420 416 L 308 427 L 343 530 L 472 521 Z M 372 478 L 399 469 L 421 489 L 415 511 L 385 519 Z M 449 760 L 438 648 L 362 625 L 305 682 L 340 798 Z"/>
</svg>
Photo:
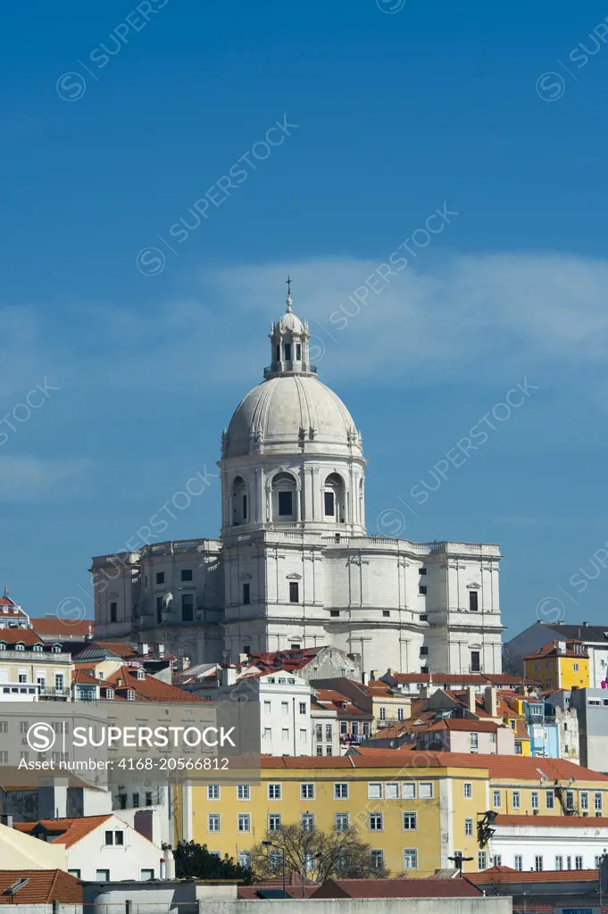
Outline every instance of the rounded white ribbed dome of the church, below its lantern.
<svg viewBox="0 0 608 914">
<path fill-rule="evenodd" d="M 243 457 L 261 448 L 361 456 L 361 438 L 342 400 L 314 375 L 281 375 L 262 381 L 241 400 L 223 456 Z"/>
</svg>

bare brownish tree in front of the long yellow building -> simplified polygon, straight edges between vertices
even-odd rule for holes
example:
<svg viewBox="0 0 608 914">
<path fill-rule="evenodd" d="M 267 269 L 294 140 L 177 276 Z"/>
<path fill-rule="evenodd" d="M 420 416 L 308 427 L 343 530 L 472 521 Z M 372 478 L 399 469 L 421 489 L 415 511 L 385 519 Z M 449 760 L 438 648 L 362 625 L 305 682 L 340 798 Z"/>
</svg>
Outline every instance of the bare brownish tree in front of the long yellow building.
<svg viewBox="0 0 608 914">
<path fill-rule="evenodd" d="M 306 875 L 318 882 L 327 877 L 342 879 L 379 878 L 389 876 L 384 865 L 376 866 L 370 856 L 370 845 L 359 840 L 357 829 L 344 832 L 304 830 L 299 825 L 284 825 L 265 838 L 269 845 L 251 848 L 251 869 L 255 877 L 264 879 L 285 873 Z"/>
</svg>

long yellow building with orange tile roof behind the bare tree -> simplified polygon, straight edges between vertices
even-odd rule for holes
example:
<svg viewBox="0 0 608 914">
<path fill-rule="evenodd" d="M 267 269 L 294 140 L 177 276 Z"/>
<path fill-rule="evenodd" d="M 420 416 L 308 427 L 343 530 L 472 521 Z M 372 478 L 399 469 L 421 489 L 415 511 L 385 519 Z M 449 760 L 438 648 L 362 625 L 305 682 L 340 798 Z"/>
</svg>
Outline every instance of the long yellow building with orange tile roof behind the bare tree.
<svg viewBox="0 0 608 914">
<path fill-rule="evenodd" d="M 584 794 L 583 803 L 608 813 L 608 777 L 568 761 L 400 749 L 358 749 L 340 758 L 263 757 L 259 783 L 197 783 L 185 792 L 190 819 L 182 815 L 184 832 L 176 840 L 191 837 L 246 863 L 251 847 L 272 840 L 283 825 L 324 832 L 355 826 L 393 876 L 430 876 L 453 866 L 449 857 L 456 850 L 473 857 L 465 872 L 489 866 L 489 850 L 479 856 L 477 841 L 478 818 L 487 810 L 524 821 L 535 809 L 563 816 L 562 804 L 570 803 L 569 814 L 582 814 Z"/>
</svg>

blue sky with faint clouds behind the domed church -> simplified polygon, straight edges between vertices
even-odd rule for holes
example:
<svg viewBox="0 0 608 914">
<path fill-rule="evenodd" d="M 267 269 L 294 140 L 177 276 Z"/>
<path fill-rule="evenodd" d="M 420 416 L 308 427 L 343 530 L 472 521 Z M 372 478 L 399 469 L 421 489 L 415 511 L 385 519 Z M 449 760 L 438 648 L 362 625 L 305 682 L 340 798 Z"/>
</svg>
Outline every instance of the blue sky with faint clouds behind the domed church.
<svg viewBox="0 0 608 914">
<path fill-rule="evenodd" d="M 603 5 L 139 7 L 2 13 L 1 582 L 34 615 L 91 614 L 91 556 L 216 472 L 290 272 L 363 433 L 368 531 L 499 543 L 507 636 L 555 600 L 601 622 Z M 165 536 L 218 529 L 211 480 Z"/>
</svg>

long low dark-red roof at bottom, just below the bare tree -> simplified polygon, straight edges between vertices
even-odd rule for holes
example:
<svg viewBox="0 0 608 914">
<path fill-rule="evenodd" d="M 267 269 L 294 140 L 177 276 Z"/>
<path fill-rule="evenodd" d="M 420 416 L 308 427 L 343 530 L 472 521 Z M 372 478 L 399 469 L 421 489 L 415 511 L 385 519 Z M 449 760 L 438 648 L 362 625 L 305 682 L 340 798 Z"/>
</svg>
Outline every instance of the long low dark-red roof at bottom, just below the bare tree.
<svg viewBox="0 0 608 914">
<path fill-rule="evenodd" d="M 477 898 L 483 893 L 466 878 L 325 879 L 312 898 Z"/>
</svg>

